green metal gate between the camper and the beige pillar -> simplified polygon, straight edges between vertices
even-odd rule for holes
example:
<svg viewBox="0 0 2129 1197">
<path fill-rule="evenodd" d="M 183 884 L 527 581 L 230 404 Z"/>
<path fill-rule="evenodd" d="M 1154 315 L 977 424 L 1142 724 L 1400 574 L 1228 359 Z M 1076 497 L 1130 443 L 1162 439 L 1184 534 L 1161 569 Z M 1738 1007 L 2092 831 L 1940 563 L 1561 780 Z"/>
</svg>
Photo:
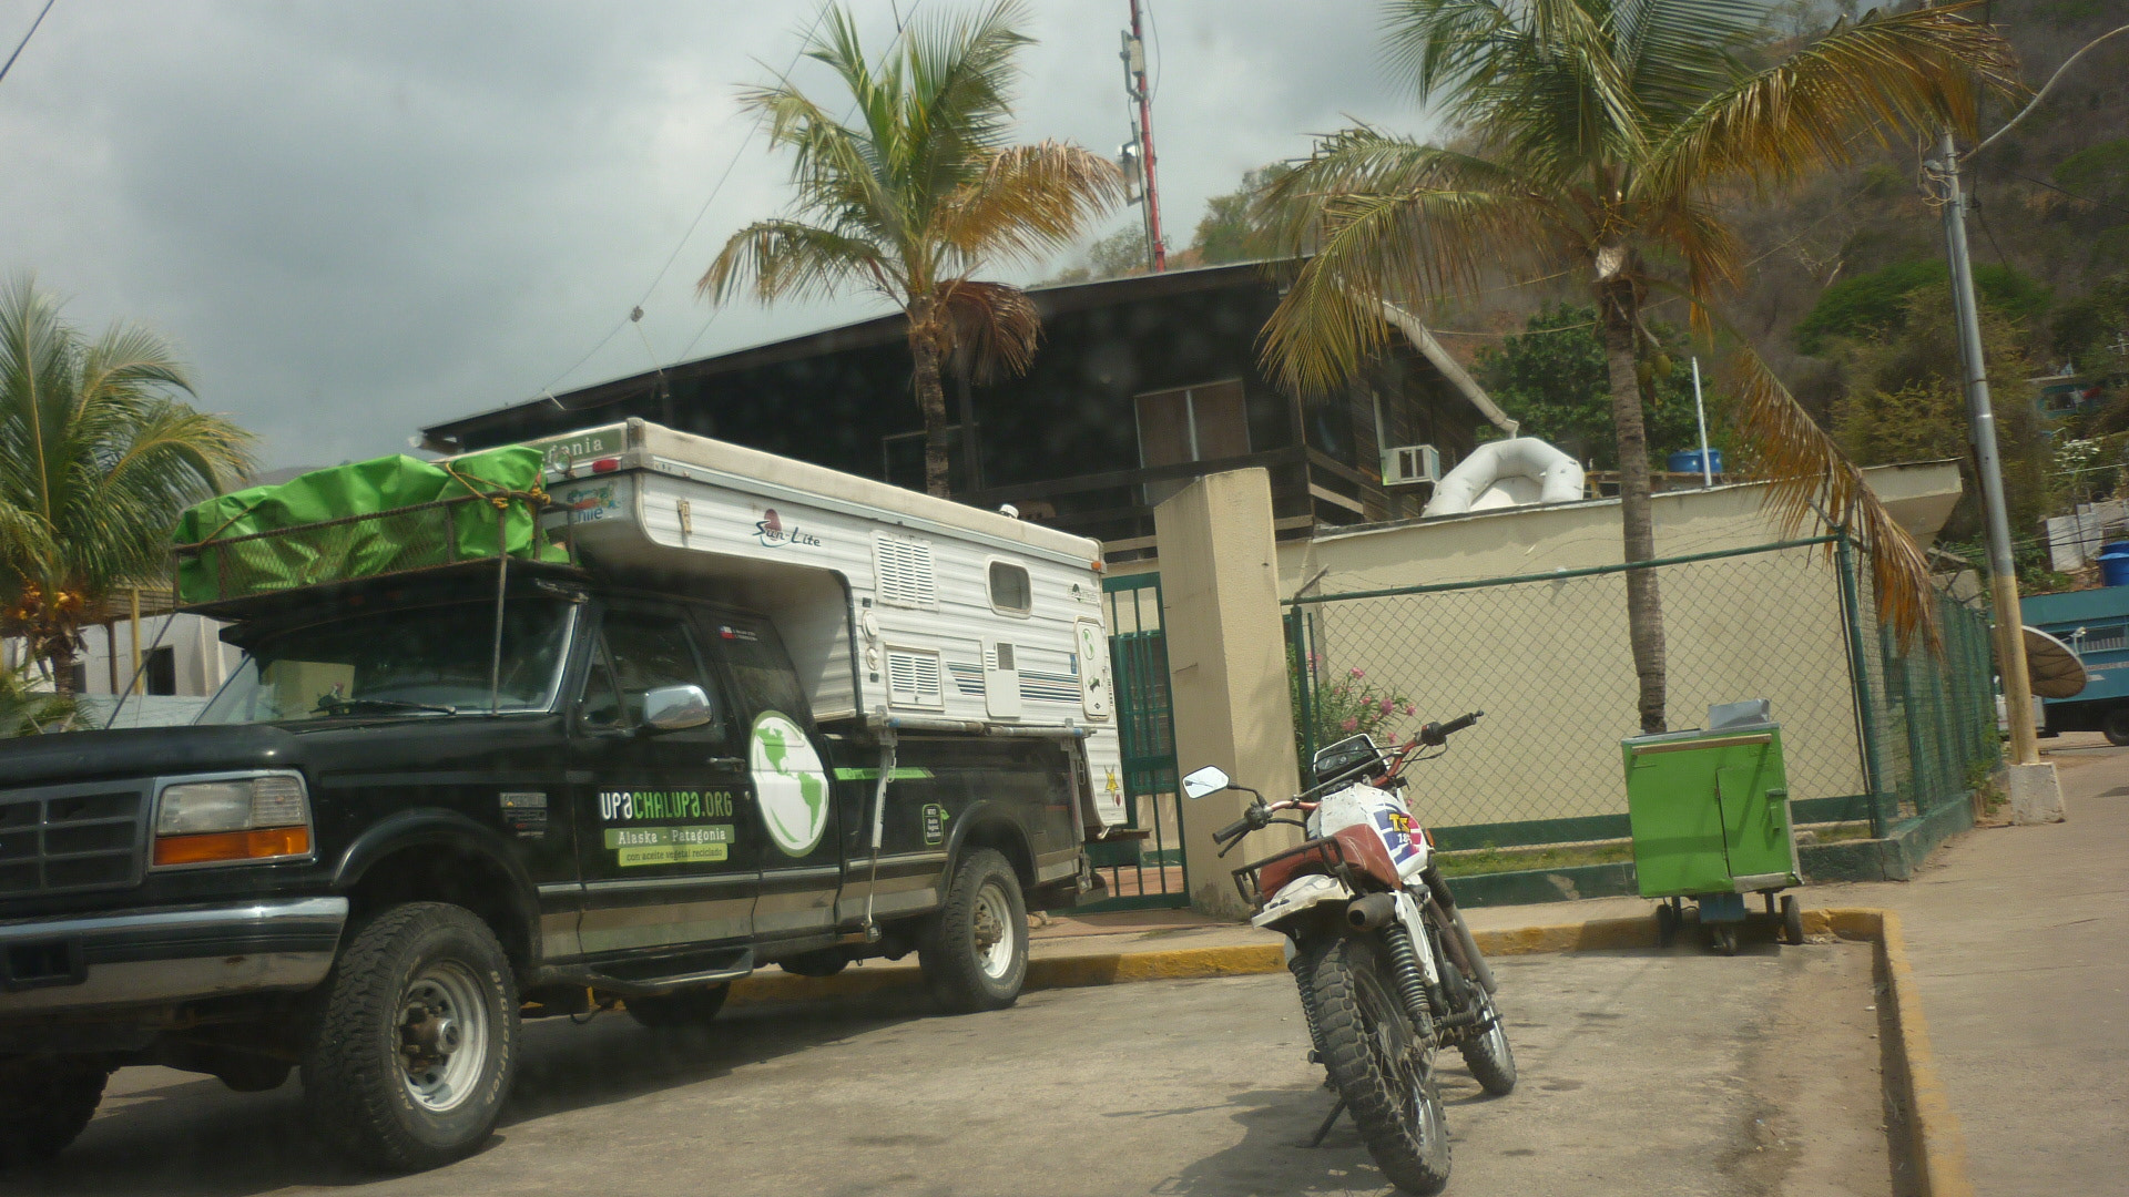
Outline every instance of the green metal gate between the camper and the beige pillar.
<svg viewBox="0 0 2129 1197">
<path fill-rule="evenodd" d="M 1124 752 L 1128 829 L 1088 846 L 1109 897 L 1079 909 L 1190 905 L 1182 809 L 1175 782 L 1175 718 L 1169 705 L 1169 645 L 1160 626 L 1160 575 L 1105 577 L 1116 726 Z"/>
</svg>

